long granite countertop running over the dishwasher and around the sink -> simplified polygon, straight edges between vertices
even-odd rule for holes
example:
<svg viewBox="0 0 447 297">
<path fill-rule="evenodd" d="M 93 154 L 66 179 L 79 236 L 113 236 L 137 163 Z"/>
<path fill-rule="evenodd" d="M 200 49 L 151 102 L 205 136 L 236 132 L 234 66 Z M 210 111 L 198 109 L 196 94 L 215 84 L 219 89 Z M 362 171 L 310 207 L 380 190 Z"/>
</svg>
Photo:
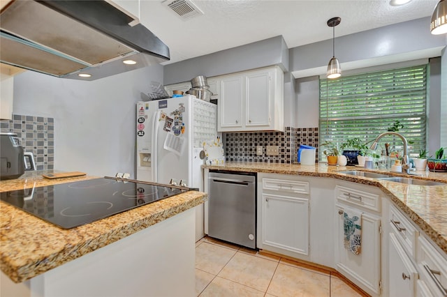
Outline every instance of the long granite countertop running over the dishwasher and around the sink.
<svg viewBox="0 0 447 297">
<path fill-rule="evenodd" d="M 446 185 L 424 186 L 407 185 L 374 178 L 339 173 L 347 170 L 362 170 L 386 173 L 393 176 L 406 176 L 377 169 L 364 169 L 354 166 L 328 166 L 325 163 L 302 166 L 298 164 L 277 164 L 263 162 L 227 162 L 223 165 L 203 165 L 207 169 L 239 172 L 263 172 L 274 174 L 295 174 L 300 176 L 320 176 L 353 181 L 380 188 L 406 215 L 415 222 L 425 234 L 447 253 L 447 172 L 424 172 L 423 176 L 411 178 L 440 181 Z M 412 172 L 418 174 L 418 172 Z M 408 176 L 406 176 L 408 177 Z"/>
</svg>

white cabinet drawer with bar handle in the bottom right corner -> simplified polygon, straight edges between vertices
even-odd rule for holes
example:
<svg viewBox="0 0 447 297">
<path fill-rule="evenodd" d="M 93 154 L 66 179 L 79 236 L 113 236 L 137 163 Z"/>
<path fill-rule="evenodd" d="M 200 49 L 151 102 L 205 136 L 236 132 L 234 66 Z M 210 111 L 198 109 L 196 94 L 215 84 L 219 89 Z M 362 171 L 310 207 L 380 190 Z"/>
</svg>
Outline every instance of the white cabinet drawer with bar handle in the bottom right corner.
<svg viewBox="0 0 447 297">
<path fill-rule="evenodd" d="M 447 296 L 447 260 L 422 236 L 418 238 L 418 245 L 421 280 L 434 296 Z"/>
</svg>

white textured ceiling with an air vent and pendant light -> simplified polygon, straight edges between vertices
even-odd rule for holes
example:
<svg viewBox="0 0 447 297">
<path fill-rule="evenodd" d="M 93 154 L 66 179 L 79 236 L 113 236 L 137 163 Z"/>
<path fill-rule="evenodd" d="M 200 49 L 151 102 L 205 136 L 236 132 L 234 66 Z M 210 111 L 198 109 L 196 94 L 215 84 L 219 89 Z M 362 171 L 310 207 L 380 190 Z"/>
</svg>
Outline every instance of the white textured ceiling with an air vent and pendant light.
<svg viewBox="0 0 447 297">
<path fill-rule="evenodd" d="M 326 22 L 341 17 L 335 36 L 432 15 L 438 0 L 193 0 L 204 15 L 183 20 L 161 0 L 141 0 L 140 20 L 170 48 L 174 63 L 282 35 L 289 48 L 332 38 Z M 430 24 L 427 22 L 427 31 Z"/>
</svg>

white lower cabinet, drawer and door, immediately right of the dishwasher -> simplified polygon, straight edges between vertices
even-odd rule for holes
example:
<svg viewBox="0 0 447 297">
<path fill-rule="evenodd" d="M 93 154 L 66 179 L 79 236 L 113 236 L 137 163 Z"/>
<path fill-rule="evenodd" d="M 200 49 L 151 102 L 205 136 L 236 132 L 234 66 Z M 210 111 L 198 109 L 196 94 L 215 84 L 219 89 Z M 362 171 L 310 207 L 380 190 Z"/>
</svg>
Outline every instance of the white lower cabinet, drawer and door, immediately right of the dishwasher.
<svg viewBox="0 0 447 297">
<path fill-rule="evenodd" d="M 307 256 L 309 182 L 258 175 L 258 188 L 258 248 L 291 257 Z"/>
</svg>

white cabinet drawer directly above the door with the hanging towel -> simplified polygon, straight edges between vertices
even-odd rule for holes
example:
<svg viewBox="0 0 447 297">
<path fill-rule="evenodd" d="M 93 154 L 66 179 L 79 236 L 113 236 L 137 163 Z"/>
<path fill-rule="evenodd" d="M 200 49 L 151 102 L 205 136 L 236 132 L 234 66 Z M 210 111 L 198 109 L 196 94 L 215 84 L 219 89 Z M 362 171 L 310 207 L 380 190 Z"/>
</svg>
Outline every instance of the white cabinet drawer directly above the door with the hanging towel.
<svg viewBox="0 0 447 297">
<path fill-rule="evenodd" d="M 337 185 L 335 187 L 335 197 L 339 201 L 362 206 L 372 211 L 380 211 L 380 196 L 377 194 Z"/>
</svg>

